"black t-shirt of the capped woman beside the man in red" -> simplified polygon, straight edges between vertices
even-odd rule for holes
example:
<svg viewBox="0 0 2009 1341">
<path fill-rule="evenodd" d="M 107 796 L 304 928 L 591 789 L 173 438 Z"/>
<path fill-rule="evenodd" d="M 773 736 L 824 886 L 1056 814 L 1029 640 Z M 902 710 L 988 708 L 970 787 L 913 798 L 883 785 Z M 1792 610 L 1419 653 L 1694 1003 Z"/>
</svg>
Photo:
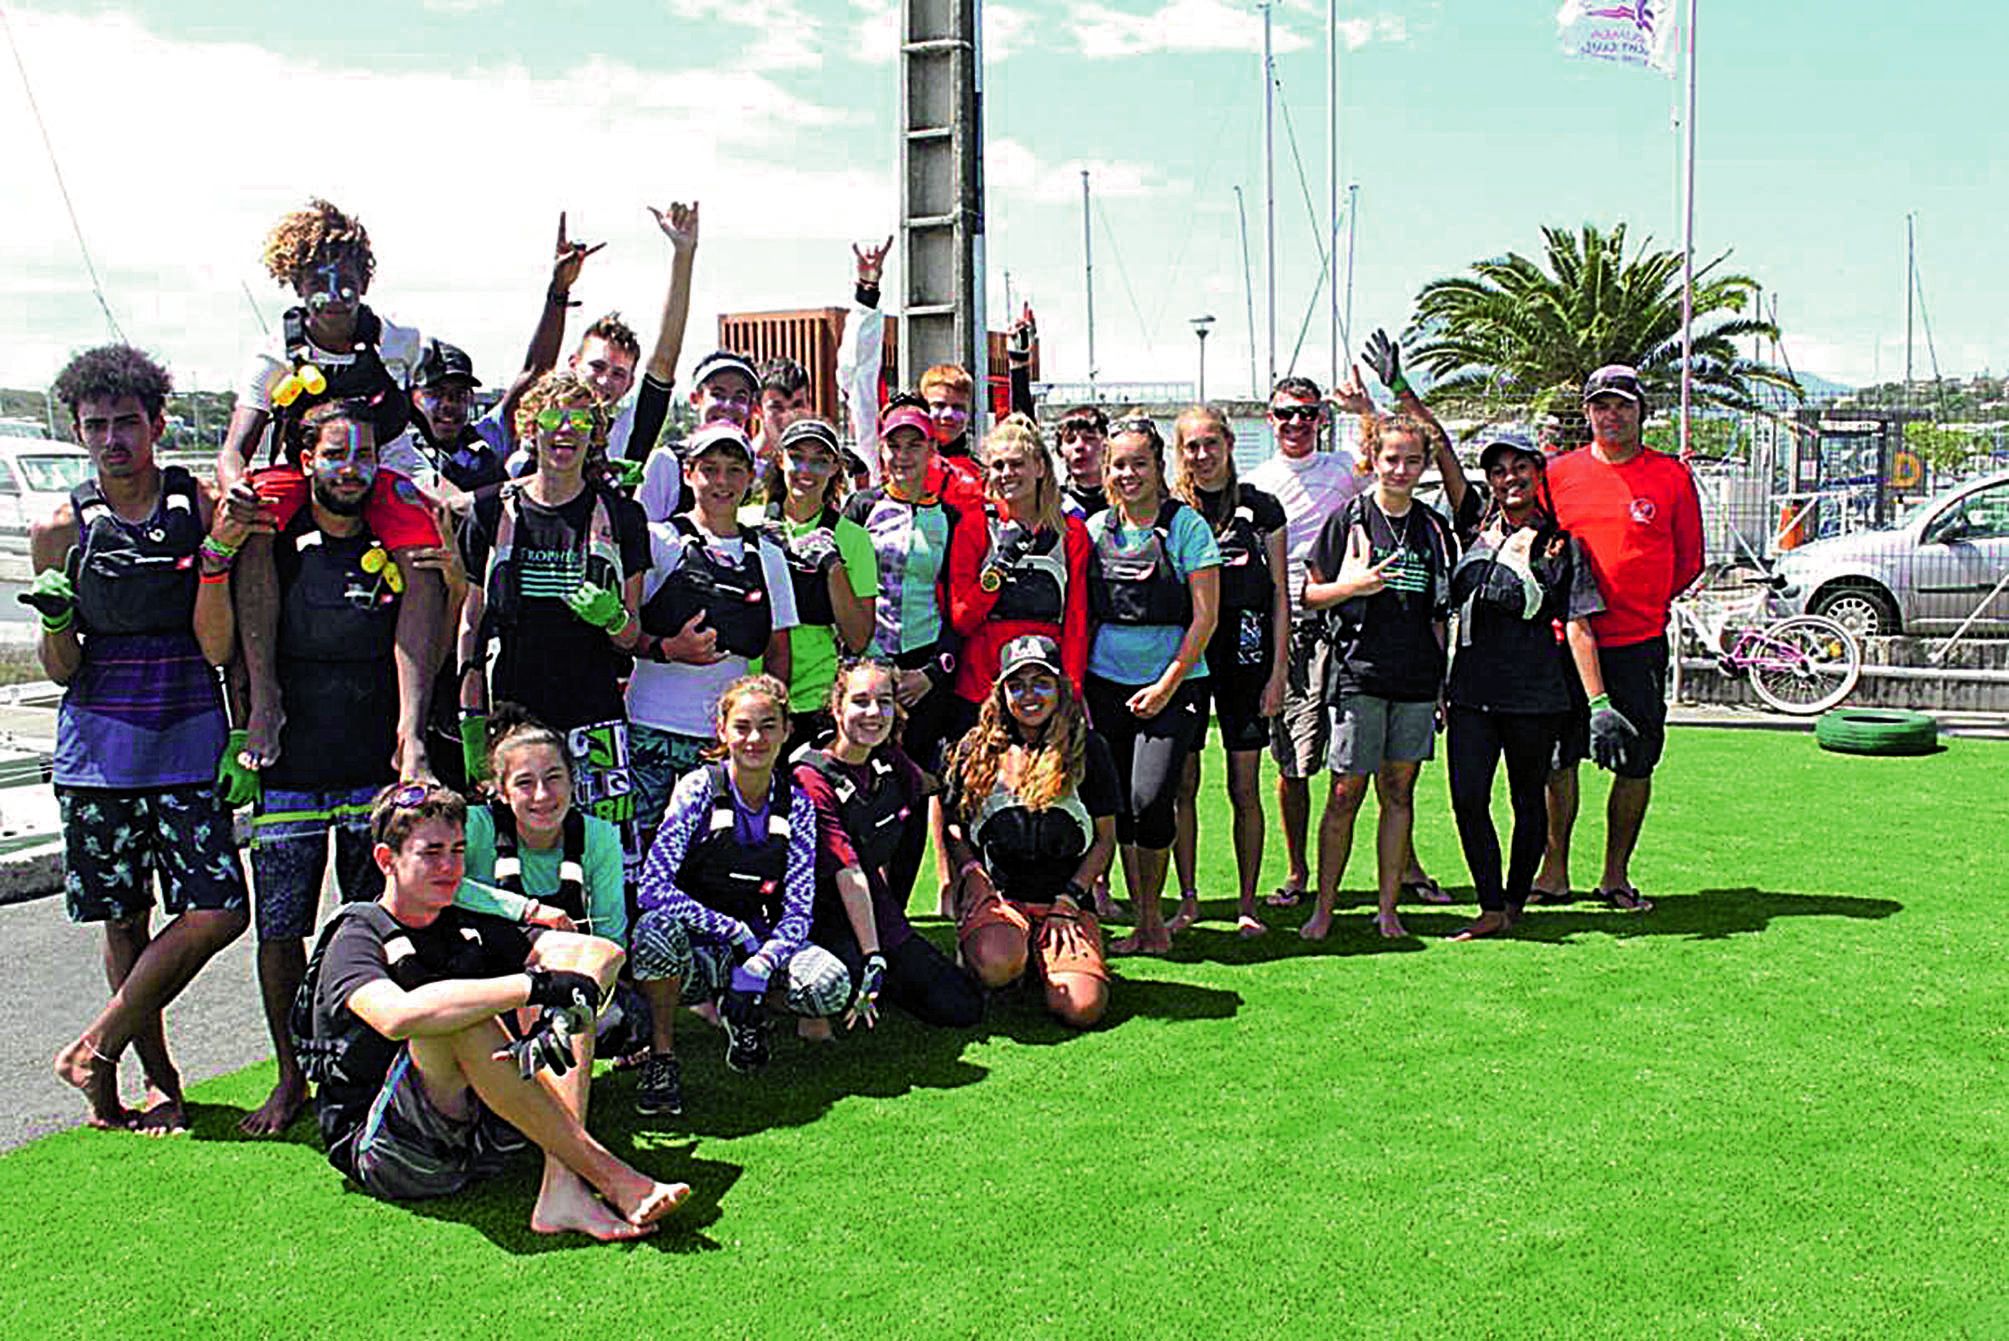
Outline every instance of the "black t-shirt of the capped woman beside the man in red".
<svg viewBox="0 0 2009 1341">
<path fill-rule="evenodd" d="M 1563 623 L 1595 615 L 1605 599 L 1581 541 L 1555 529 L 1537 533 L 1527 553 L 1529 577 L 1541 589 L 1535 617 L 1527 619 L 1517 609 L 1487 599 L 1487 589 L 1503 591 L 1509 601 L 1519 595 L 1517 581 L 1501 581 L 1507 577 L 1505 565 L 1499 573 L 1489 573 L 1499 565 L 1499 551 L 1509 535 L 1513 533 L 1491 527 L 1477 533 L 1471 551 L 1459 561 L 1453 585 L 1461 597 L 1459 635 L 1446 698 L 1495 712 L 1567 712 L 1577 667 L 1563 639 Z M 1479 593 L 1463 599 L 1473 589 Z"/>
</svg>

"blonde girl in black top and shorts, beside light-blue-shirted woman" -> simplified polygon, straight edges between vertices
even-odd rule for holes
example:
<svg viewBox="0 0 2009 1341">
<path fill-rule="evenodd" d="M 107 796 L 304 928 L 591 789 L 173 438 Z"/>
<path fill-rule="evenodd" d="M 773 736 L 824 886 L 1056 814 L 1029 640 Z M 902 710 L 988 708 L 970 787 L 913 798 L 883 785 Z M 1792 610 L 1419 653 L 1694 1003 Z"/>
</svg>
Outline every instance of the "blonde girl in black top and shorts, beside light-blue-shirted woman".
<svg viewBox="0 0 2009 1341">
<path fill-rule="evenodd" d="M 1286 521 L 1276 499 L 1236 481 L 1236 430 L 1213 406 L 1183 410 L 1171 428 L 1171 493 L 1195 509 L 1213 529 L 1221 551 L 1221 615 L 1207 641 L 1207 706 L 1221 724 L 1221 752 L 1227 754 L 1227 800 L 1236 812 L 1236 875 L 1242 901 L 1236 931 L 1256 937 L 1268 931 L 1256 915 L 1256 883 L 1262 879 L 1262 752 L 1270 744 L 1270 722 L 1284 708 L 1284 678 L 1290 661 L 1290 587 L 1286 573 Z M 1195 891 L 1195 848 L 1199 844 L 1199 756 L 1207 742 L 1207 708 L 1201 708 L 1199 740 L 1185 756 L 1179 776 L 1179 834 L 1173 865 L 1179 873 L 1177 933 L 1199 919 Z"/>
</svg>

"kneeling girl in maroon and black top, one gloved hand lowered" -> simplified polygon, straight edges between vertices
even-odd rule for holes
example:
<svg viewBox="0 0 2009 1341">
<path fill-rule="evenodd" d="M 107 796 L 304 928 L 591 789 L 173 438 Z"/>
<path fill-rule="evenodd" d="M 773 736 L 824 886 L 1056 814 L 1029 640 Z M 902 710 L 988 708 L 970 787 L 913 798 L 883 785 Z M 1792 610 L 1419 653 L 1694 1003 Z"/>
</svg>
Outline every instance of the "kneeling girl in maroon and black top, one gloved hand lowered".
<svg viewBox="0 0 2009 1341">
<path fill-rule="evenodd" d="M 900 858 L 900 840 L 928 814 L 934 782 L 892 744 L 894 676 L 886 661 L 844 665 L 830 692 L 836 734 L 794 758 L 822 826 L 810 939 L 850 969 L 852 1021 L 872 1023 L 884 989 L 922 1023 L 966 1029 L 982 1019 L 982 993 L 906 921 L 916 865 Z"/>
</svg>

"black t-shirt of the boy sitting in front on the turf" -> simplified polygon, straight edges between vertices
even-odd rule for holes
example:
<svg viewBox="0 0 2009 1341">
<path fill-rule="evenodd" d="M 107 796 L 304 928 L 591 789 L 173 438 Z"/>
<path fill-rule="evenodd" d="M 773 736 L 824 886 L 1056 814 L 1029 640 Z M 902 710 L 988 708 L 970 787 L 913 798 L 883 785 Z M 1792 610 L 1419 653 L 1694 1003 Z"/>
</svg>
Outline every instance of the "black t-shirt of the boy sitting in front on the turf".
<svg viewBox="0 0 2009 1341">
<path fill-rule="evenodd" d="M 348 1140 L 370 1114 L 400 1047 L 350 1011 L 350 995 L 382 977 L 412 991 L 448 979 L 520 973 L 530 937 L 500 917 L 456 907 L 426 927 L 406 927 L 382 903 L 350 905 L 338 917 L 315 983 L 313 1035 L 352 1039 L 342 1056 L 348 1084 L 329 1080 L 317 1090 L 321 1140 L 336 1166 L 350 1172 Z"/>
</svg>

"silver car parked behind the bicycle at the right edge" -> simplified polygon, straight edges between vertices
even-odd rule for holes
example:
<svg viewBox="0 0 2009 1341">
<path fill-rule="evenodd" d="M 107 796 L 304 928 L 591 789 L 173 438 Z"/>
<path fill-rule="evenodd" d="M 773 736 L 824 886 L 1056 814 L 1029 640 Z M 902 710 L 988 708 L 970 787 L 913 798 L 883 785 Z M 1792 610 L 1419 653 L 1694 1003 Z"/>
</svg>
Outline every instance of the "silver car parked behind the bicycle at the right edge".
<svg viewBox="0 0 2009 1341">
<path fill-rule="evenodd" d="M 1862 637 L 1951 633 L 1969 615 L 1971 635 L 2009 635 L 2009 472 L 1939 493 L 1882 531 L 1790 549 L 1778 575 L 1794 611 Z"/>
</svg>

